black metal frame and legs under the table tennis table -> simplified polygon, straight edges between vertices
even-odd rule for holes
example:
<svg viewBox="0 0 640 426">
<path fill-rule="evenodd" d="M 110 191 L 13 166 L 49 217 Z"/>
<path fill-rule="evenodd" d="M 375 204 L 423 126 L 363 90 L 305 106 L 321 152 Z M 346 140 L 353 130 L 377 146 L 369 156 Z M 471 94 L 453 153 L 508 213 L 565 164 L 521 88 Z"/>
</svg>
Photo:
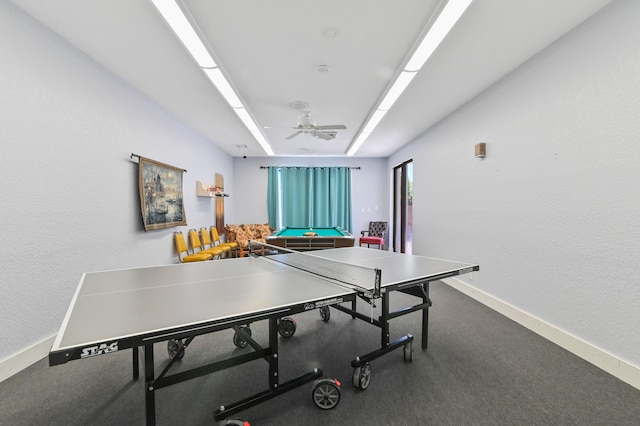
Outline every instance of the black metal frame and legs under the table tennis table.
<svg viewBox="0 0 640 426">
<path fill-rule="evenodd" d="M 258 359 L 264 359 L 269 364 L 269 389 L 251 395 L 240 401 L 220 406 L 219 409 L 214 412 L 215 420 L 223 420 L 231 415 L 234 415 L 242 410 L 255 406 L 261 402 L 267 401 L 313 380 L 319 379 L 323 375 L 323 371 L 320 368 L 315 368 L 313 371 L 302 374 L 292 380 L 285 383 L 279 383 L 280 374 L 279 370 L 279 357 L 278 357 L 278 321 L 290 315 L 306 312 L 320 307 L 332 307 L 339 311 L 342 311 L 352 318 L 358 318 L 366 321 L 381 329 L 381 341 L 380 348 L 373 350 L 365 355 L 356 357 L 351 361 L 351 366 L 354 368 L 361 367 L 362 365 L 373 361 L 395 349 L 404 347 L 407 344 L 411 344 L 413 336 L 407 334 L 399 339 L 390 342 L 389 322 L 394 318 L 398 318 L 404 315 L 416 311 L 422 311 L 422 349 L 427 349 L 428 344 L 428 325 L 429 325 L 429 307 L 431 306 L 431 300 L 429 298 L 429 285 L 432 281 L 437 281 L 443 278 L 461 275 L 471 271 L 477 271 L 479 267 L 467 268 L 458 271 L 451 271 L 443 273 L 437 276 L 429 277 L 428 279 L 418 279 L 410 282 L 404 282 L 400 284 L 394 284 L 385 286 L 379 290 L 379 294 L 364 294 L 362 292 L 354 292 L 342 295 L 337 298 L 330 298 L 325 300 L 318 300 L 312 303 L 301 303 L 292 305 L 285 308 L 268 310 L 256 314 L 241 315 L 234 318 L 225 320 L 216 320 L 210 323 L 200 324 L 195 327 L 181 327 L 164 332 L 154 332 L 147 335 L 132 336 L 125 339 L 120 339 L 117 343 L 115 350 L 123 350 L 131 348 L 133 352 L 133 378 L 137 380 L 139 378 L 139 350 L 143 349 L 144 352 L 144 378 L 145 378 L 145 407 L 146 407 L 146 421 L 148 425 L 155 424 L 155 392 L 159 389 L 172 386 L 178 383 L 182 383 L 191 379 L 202 377 L 208 374 L 215 373 L 227 368 L 242 365 L 247 362 L 251 362 Z M 390 311 L 390 295 L 394 291 L 400 291 L 401 293 L 415 296 L 421 299 L 421 303 L 405 307 L 396 311 Z M 374 292 L 376 293 L 376 292 Z M 357 311 L 356 301 L 357 299 L 363 299 L 368 303 L 374 303 L 375 300 L 381 300 L 381 314 L 378 318 L 364 315 Z M 344 303 L 350 303 L 351 307 L 344 306 Z M 250 334 L 244 330 L 244 326 L 253 322 L 268 320 L 268 334 L 269 334 L 269 346 L 262 347 L 258 344 Z M 181 371 L 179 373 L 169 374 L 171 367 L 175 362 L 181 358 L 183 351 L 189 346 L 189 344 L 200 335 L 214 333 L 217 331 L 234 329 L 236 333 L 242 335 L 247 341 L 248 345 L 253 349 L 250 353 L 240 354 L 232 356 L 227 359 L 209 363 L 190 370 Z M 169 360 L 164 369 L 157 375 L 155 374 L 155 359 L 154 359 L 154 347 L 155 343 L 180 340 L 182 341 L 179 351 Z M 105 347 L 109 347 L 109 343 L 104 344 Z M 100 347 L 103 347 L 102 345 Z M 67 361 L 80 359 L 82 354 L 88 348 L 73 348 L 67 351 L 57 351 L 49 354 L 49 364 L 57 365 L 63 364 Z M 107 350 L 108 352 L 108 350 Z"/>
</svg>

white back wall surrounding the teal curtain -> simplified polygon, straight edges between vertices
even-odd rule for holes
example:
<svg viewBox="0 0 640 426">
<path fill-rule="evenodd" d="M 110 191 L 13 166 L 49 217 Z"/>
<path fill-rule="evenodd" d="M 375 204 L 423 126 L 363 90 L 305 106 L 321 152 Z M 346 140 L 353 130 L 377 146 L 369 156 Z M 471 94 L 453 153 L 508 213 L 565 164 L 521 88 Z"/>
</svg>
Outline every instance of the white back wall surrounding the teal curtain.
<svg viewBox="0 0 640 426">
<path fill-rule="evenodd" d="M 318 142 L 325 143 L 325 142 Z M 227 223 L 266 223 L 267 170 L 260 166 L 349 166 L 352 170 L 351 192 L 353 229 L 356 237 L 369 228 L 370 221 L 389 221 L 389 182 L 387 163 L 382 158 L 336 157 L 253 157 L 233 159 L 233 182 L 238 188 L 229 200 L 234 206 L 234 219 Z M 240 189 L 241 188 L 241 189 Z"/>
</svg>

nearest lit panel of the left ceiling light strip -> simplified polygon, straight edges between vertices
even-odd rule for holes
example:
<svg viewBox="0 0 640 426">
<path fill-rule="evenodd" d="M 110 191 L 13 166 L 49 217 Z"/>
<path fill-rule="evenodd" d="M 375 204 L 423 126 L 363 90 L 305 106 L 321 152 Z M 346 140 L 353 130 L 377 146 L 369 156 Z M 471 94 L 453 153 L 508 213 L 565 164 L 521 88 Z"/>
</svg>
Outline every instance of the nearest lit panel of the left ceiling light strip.
<svg viewBox="0 0 640 426">
<path fill-rule="evenodd" d="M 198 65 L 206 68 L 213 68 L 216 62 L 209 53 L 207 47 L 202 43 L 198 34 L 187 17 L 174 0 L 151 0 L 158 9 L 162 17 L 167 21 L 171 29 L 178 36 L 184 47 L 187 48 L 191 56 Z"/>
</svg>

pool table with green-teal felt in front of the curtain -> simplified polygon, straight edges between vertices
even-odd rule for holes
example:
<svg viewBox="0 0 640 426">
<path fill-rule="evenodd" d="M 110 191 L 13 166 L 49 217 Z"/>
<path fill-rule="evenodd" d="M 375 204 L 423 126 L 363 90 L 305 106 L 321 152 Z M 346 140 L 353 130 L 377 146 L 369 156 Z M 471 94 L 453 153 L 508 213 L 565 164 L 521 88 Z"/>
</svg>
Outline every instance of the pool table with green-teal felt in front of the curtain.
<svg viewBox="0 0 640 426">
<path fill-rule="evenodd" d="M 340 227 L 290 228 L 285 226 L 269 235 L 266 242 L 290 250 L 306 251 L 353 247 L 355 237 Z"/>
</svg>

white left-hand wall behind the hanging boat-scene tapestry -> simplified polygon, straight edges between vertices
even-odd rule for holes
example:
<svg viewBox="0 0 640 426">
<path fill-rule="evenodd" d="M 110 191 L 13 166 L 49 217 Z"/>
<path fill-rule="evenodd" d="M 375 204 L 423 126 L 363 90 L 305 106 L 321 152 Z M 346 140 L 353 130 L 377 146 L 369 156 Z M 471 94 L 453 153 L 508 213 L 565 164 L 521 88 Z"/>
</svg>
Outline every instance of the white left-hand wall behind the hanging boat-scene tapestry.
<svg viewBox="0 0 640 426">
<path fill-rule="evenodd" d="M 232 160 L 7 1 L 0 52 L 1 361 L 57 331 L 83 272 L 177 261 L 176 228 L 143 230 L 131 153 L 187 169 L 189 227 L 213 223 L 195 181 Z"/>
</svg>

